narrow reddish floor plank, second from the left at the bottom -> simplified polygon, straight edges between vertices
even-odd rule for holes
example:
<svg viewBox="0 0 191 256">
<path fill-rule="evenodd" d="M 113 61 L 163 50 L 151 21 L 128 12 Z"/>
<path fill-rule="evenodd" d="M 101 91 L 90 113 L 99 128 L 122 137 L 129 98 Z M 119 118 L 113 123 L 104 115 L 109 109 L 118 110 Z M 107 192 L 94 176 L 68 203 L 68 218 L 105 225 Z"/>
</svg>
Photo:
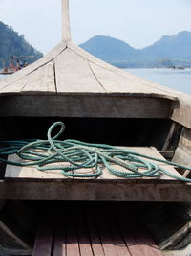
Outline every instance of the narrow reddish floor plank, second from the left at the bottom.
<svg viewBox="0 0 191 256">
<path fill-rule="evenodd" d="M 53 244 L 54 256 L 66 256 L 66 222 L 65 214 L 62 207 L 58 208 L 57 218 L 55 221 L 55 235 Z"/>
</svg>

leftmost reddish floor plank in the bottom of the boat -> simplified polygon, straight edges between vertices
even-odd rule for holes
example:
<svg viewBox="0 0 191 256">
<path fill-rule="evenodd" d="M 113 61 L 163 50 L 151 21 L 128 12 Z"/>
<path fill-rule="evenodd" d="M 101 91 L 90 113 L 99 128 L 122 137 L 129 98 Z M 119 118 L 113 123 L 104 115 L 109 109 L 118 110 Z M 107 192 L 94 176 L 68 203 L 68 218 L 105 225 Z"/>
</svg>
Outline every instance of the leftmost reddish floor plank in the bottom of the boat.
<svg viewBox="0 0 191 256">
<path fill-rule="evenodd" d="M 53 244 L 53 216 L 44 214 L 39 221 L 32 256 L 51 256 Z"/>
</svg>

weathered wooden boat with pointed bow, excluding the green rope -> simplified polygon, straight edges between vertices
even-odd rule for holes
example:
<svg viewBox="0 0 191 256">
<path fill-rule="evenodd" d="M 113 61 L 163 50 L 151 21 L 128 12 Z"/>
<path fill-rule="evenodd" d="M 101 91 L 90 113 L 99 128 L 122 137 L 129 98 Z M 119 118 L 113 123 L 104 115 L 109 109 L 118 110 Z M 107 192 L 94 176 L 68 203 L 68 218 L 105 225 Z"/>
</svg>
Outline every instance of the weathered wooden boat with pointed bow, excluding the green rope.
<svg viewBox="0 0 191 256">
<path fill-rule="evenodd" d="M 44 58 L 0 81 L 0 139 L 43 139 L 47 128 L 60 120 L 67 128 L 65 138 L 133 147 L 134 150 L 190 166 L 191 97 L 117 69 L 75 46 L 71 41 L 67 0 L 62 1 L 62 12 L 62 42 Z M 190 177 L 188 171 L 172 167 L 168 170 Z M 51 216 L 42 215 L 33 255 L 61 255 L 64 252 L 66 255 L 92 255 L 87 251 L 91 249 L 96 253 L 97 247 L 103 249 L 105 255 L 135 255 L 131 253 L 131 244 L 137 253 L 138 248 L 141 250 L 141 255 L 158 255 L 151 251 L 153 242 L 146 235 L 140 236 L 145 228 L 140 228 L 136 238 L 129 238 L 130 244 L 125 242 L 126 254 L 118 252 L 122 241 L 123 245 L 126 241 L 126 235 L 131 236 L 131 232 L 126 234 L 126 229 L 122 232 L 123 223 L 127 225 L 122 215 L 131 209 L 128 220 L 133 220 L 137 214 L 138 219 L 132 223 L 141 227 L 138 224 L 141 220 L 159 248 L 169 250 L 165 255 L 189 255 L 190 188 L 190 183 L 165 175 L 158 179 L 124 179 L 104 172 L 96 179 L 71 179 L 59 174 L 42 175 L 37 170 L 1 163 L 0 232 L 3 235 L 0 236 L 0 249 L 4 255 L 13 254 L 12 251 L 16 255 L 31 255 L 34 223 L 44 209 Z M 47 201 L 57 201 L 57 204 Z M 66 201 L 71 202 L 67 204 Z M 78 205 L 80 202 L 84 205 L 87 201 L 102 201 L 97 207 L 104 210 L 94 208 L 96 202 L 93 208 L 88 203 L 85 208 L 83 205 L 76 208 L 76 201 L 79 201 Z M 125 211 L 121 210 L 122 205 Z M 54 211 L 53 216 L 58 222 L 53 221 L 50 210 L 56 207 L 58 216 L 54 216 Z M 69 207 L 67 223 L 79 217 L 79 212 L 84 213 L 84 209 L 94 214 L 97 212 L 99 217 L 102 211 L 106 215 L 104 220 L 108 221 L 106 226 L 101 218 L 89 222 L 82 214 L 85 226 L 90 223 L 90 231 L 99 226 L 101 238 L 96 236 L 96 231 L 85 235 L 82 222 L 76 222 L 75 226 L 74 221 L 72 227 L 67 224 L 64 228 L 66 222 L 62 213 L 65 207 Z M 111 208 L 115 208 L 114 215 L 107 217 L 108 212 L 112 212 Z M 129 225 L 132 223 L 130 221 Z M 110 239 L 106 232 L 108 226 Z M 121 229 L 115 226 L 121 226 Z M 134 226 L 130 228 L 134 229 Z M 69 232 L 64 243 L 63 230 Z M 141 245 L 150 252 L 143 254 Z M 71 248 L 74 254 L 70 254 L 66 247 Z M 82 253 L 83 249 L 86 253 Z"/>
</svg>

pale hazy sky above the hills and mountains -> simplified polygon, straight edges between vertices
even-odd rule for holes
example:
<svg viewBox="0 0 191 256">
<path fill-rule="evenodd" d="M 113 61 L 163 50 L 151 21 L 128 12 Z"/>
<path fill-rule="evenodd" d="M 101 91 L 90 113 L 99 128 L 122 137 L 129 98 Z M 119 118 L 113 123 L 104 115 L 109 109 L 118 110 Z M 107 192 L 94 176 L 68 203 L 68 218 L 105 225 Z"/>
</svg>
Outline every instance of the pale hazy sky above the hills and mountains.
<svg viewBox="0 0 191 256">
<path fill-rule="evenodd" d="M 36 49 L 50 51 L 61 40 L 61 0 L 0 0 L 0 21 Z M 72 38 L 111 35 L 135 48 L 162 35 L 191 31 L 191 0 L 70 0 Z"/>
</svg>

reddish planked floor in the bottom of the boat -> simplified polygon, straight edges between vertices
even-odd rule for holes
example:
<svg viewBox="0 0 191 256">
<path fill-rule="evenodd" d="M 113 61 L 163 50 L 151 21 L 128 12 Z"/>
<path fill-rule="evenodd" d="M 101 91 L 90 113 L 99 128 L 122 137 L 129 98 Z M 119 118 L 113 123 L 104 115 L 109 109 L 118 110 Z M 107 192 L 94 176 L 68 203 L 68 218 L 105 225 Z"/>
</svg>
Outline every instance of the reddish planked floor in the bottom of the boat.
<svg viewBox="0 0 191 256">
<path fill-rule="evenodd" d="M 162 256 L 131 207 L 73 203 L 57 212 L 53 208 L 39 222 L 33 256 Z"/>
</svg>

